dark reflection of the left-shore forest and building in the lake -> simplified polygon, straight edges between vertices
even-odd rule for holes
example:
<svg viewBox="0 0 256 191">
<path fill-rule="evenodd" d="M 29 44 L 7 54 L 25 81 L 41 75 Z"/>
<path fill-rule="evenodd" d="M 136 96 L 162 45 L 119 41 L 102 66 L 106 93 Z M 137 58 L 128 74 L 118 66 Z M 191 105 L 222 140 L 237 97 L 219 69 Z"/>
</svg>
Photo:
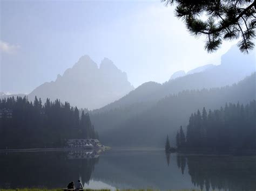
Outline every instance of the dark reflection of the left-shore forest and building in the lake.
<svg viewBox="0 0 256 191">
<path fill-rule="evenodd" d="M 2 188 L 62 188 L 78 179 L 88 183 L 98 156 L 98 152 L 84 150 L 0 153 L 0 164 L 4 164 L 0 185 Z"/>
</svg>

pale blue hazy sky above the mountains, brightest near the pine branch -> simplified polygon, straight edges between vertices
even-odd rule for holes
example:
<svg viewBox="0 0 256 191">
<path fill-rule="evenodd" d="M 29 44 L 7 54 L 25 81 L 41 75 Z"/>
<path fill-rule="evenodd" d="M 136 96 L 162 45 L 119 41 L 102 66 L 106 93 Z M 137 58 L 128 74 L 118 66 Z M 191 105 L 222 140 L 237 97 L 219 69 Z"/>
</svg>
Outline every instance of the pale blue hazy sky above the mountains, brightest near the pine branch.
<svg viewBox="0 0 256 191">
<path fill-rule="evenodd" d="M 0 91 L 30 93 L 89 55 L 109 58 L 134 87 L 163 83 L 178 70 L 220 64 L 235 44 L 204 50 L 158 1 L 0 0 Z"/>
</svg>

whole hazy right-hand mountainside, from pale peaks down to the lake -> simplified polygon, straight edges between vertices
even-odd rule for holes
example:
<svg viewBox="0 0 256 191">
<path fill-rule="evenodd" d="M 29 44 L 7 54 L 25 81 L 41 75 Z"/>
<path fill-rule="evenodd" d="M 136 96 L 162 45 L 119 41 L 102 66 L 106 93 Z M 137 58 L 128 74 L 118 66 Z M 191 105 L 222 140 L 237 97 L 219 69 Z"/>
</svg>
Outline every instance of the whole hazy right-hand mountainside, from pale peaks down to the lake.
<svg viewBox="0 0 256 191">
<path fill-rule="evenodd" d="M 226 87 L 254 72 L 255 53 L 244 55 L 236 47 L 232 47 L 222 56 L 221 65 L 206 65 L 192 70 L 192 74 L 163 84 L 144 83 L 118 101 L 93 110 L 91 119 L 99 131 L 101 140 L 106 144 L 163 146 L 161 138 L 169 132 L 173 140 L 172 136 L 178 126 L 186 125 L 191 112 L 204 106 L 207 109 L 217 109 L 225 102 L 247 103 L 255 99 L 255 74 L 250 80 L 240 82 L 239 87 Z M 226 88 L 215 90 L 219 87 Z M 182 93 L 184 90 L 193 92 L 187 91 L 185 94 Z M 169 101 L 165 102 L 165 99 Z M 173 102 L 174 100 L 176 102 Z M 165 104 L 160 107 L 159 103 Z M 114 138 L 111 135 L 114 135 Z"/>
</svg>

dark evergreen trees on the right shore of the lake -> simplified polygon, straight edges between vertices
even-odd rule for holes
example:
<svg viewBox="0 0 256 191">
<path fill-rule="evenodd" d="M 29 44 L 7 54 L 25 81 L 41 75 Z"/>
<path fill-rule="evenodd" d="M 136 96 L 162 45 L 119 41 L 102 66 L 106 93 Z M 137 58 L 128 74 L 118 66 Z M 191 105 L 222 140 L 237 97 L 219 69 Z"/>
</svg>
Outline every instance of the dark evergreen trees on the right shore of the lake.
<svg viewBox="0 0 256 191">
<path fill-rule="evenodd" d="M 226 104 L 218 110 L 199 110 L 190 116 L 186 137 L 180 127 L 178 148 L 207 148 L 217 151 L 256 149 L 256 102 Z"/>
</svg>

